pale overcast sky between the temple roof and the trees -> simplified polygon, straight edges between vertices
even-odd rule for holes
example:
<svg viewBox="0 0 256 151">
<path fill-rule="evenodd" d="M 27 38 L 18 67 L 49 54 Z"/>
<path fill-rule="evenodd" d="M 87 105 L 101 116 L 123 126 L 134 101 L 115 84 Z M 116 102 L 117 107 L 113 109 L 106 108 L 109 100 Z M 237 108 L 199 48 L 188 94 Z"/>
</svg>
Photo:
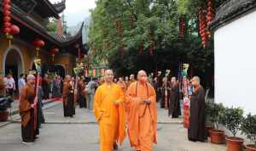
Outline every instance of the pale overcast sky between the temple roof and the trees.
<svg viewBox="0 0 256 151">
<path fill-rule="evenodd" d="M 51 3 L 60 2 L 61 0 L 49 0 Z M 78 25 L 84 18 L 90 15 L 90 8 L 96 7 L 96 0 L 67 0 L 66 15 L 67 26 Z"/>
</svg>

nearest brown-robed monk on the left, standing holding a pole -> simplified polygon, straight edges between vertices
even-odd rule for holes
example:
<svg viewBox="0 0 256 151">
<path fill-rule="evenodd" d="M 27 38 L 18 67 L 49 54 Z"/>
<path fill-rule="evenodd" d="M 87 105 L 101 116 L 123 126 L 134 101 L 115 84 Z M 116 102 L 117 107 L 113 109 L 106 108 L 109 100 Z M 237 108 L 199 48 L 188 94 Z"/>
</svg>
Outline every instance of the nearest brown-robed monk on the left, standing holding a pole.
<svg viewBox="0 0 256 151">
<path fill-rule="evenodd" d="M 35 76 L 26 77 L 27 84 L 20 93 L 20 117 L 22 143 L 33 143 L 38 135 L 37 124 L 37 103 L 38 97 L 35 95 Z"/>
</svg>

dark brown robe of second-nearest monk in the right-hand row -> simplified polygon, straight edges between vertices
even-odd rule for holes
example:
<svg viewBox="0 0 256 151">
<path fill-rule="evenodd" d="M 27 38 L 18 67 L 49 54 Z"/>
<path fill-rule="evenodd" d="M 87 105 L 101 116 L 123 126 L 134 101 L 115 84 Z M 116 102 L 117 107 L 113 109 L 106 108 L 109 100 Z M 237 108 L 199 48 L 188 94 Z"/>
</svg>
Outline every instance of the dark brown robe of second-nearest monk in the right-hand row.
<svg viewBox="0 0 256 151">
<path fill-rule="evenodd" d="M 171 84 L 170 98 L 169 98 L 169 110 L 168 115 L 172 115 L 172 118 L 177 118 L 181 115 L 180 102 L 179 102 L 179 87 L 178 84 Z"/>
</svg>

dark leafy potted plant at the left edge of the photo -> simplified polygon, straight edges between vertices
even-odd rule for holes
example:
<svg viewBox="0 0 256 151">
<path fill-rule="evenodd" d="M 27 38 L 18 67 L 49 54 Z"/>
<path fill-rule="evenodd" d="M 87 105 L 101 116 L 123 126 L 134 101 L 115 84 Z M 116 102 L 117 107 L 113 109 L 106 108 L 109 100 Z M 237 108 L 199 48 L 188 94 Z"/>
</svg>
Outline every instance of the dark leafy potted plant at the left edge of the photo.
<svg viewBox="0 0 256 151">
<path fill-rule="evenodd" d="M 0 121 L 8 120 L 9 112 L 7 109 L 10 107 L 12 102 L 12 98 L 0 96 Z"/>
</svg>

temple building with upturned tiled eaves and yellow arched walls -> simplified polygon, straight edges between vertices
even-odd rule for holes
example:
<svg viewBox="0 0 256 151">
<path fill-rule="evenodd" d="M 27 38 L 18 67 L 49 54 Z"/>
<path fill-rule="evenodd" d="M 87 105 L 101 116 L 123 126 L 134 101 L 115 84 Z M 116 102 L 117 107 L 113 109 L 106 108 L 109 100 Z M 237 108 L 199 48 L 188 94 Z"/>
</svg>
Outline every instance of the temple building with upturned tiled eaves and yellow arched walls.
<svg viewBox="0 0 256 151">
<path fill-rule="evenodd" d="M 0 70 L 3 75 L 11 72 L 18 79 L 21 73 L 27 74 L 35 68 L 33 61 L 37 57 L 36 39 L 44 41 L 38 57 L 42 61 L 42 74 L 57 72 L 61 76 L 72 74 L 78 54 L 86 52 L 82 42 L 83 25 L 73 36 L 63 34 L 61 21 L 55 34 L 47 31 L 49 19 L 60 20 L 61 12 L 66 8 L 66 0 L 50 3 L 49 0 L 12 0 L 10 8 L 11 23 L 19 26 L 20 33 L 14 36 L 11 45 L 3 33 L 3 0 L 0 0 Z M 51 50 L 57 48 L 59 53 L 52 59 Z"/>
</svg>

